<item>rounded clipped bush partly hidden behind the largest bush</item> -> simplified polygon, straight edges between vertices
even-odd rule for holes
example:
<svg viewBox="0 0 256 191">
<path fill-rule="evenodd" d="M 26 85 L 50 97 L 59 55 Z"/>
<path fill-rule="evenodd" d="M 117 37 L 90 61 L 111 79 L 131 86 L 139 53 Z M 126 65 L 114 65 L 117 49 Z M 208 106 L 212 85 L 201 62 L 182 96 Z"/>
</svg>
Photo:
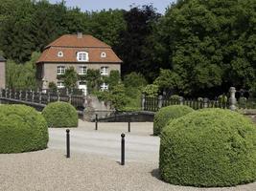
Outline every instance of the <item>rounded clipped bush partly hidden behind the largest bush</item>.
<svg viewBox="0 0 256 191">
<path fill-rule="evenodd" d="M 177 117 L 183 117 L 194 110 L 185 105 L 171 105 L 161 108 L 153 117 L 153 135 L 160 135 L 165 125 Z"/>
</svg>

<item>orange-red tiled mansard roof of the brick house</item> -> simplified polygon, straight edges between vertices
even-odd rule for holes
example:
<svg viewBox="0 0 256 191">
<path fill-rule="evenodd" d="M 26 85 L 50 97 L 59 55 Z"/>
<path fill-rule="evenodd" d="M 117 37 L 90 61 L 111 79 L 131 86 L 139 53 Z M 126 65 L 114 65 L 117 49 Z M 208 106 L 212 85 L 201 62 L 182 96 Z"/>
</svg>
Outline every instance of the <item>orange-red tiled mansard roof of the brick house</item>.
<svg viewBox="0 0 256 191">
<path fill-rule="evenodd" d="M 58 52 L 63 56 L 58 57 Z M 89 55 L 88 62 L 121 63 L 122 60 L 112 51 L 111 47 L 91 35 L 62 35 L 57 40 L 46 46 L 36 63 L 41 62 L 79 62 L 78 52 L 86 52 Z M 101 57 L 105 53 L 105 57 Z"/>
</svg>

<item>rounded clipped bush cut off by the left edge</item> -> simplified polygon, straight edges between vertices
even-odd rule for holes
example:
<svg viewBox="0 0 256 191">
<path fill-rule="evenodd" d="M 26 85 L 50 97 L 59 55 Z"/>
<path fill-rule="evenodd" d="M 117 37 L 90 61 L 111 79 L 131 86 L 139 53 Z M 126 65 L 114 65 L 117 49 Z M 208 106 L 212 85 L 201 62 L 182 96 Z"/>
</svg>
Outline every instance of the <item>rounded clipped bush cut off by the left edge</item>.
<svg viewBox="0 0 256 191">
<path fill-rule="evenodd" d="M 47 148 L 47 123 L 34 108 L 0 105 L 0 153 L 22 153 Z"/>
</svg>

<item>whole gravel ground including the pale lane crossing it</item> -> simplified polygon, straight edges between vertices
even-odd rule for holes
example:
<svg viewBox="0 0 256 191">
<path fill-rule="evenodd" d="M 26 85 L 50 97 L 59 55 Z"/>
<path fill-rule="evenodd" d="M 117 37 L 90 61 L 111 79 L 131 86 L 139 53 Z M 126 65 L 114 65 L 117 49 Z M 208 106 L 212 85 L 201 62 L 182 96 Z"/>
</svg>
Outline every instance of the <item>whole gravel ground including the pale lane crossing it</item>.
<svg viewBox="0 0 256 191">
<path fill-rule="evenodd" d="M 127 134 L 128 160 L 121 166 L 120 133 L 126 132 L 125 126 L 102 123 L 95 132 L 93 123 L 80 121 L 80 128 L 71 129 L 70 159 L 64 156 L 65 130 L 50 129 L 49 149 L 0 155 L 0 191 L 256 190 L 256 182 L 229 188 L 196 188 L 159 180 L 159 138 L 150 136 L 151 123 L 132 124 L 132 132 Z"/>
</svg>

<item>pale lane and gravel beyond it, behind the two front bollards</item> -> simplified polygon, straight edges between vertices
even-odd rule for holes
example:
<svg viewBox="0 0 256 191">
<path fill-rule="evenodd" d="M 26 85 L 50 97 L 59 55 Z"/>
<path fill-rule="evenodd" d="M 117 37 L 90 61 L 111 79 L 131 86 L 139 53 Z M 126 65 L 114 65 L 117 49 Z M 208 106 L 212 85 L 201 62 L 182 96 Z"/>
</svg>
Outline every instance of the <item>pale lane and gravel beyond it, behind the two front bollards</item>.
<svg viewBox="0 0 256 191">
<path fill-rule="evenodd" d="M 71 152 L 98 154 L 108 158 L 120 159 L 121 133 L 126 133 L 127 123 L 95 124 L 80 121 L 79 128 L 70 132 Z M 126 159 L 128 161 L 154 162 L 159 156 L 158 137 L 152 137 L 151 123 L 132 123 L 131 133 L 126 133 Z M 49 148 L 65 150 L 65 129 L 49 129 Z"/>
</svg>

